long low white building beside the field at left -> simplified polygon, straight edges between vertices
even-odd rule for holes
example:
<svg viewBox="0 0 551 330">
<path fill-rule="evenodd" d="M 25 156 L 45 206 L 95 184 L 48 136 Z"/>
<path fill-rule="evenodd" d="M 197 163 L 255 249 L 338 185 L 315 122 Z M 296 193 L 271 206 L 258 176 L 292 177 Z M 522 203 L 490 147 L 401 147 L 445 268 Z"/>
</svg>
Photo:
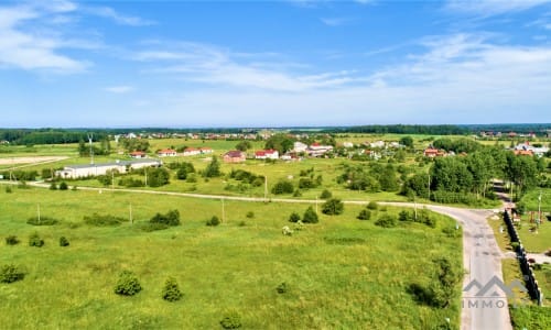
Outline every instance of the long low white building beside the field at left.
<svg viewBox="0 0 551 330">
<path fill-rule="evenodd" d="M 105 164 L 71 165 L 65 166 L 62 170 L 56 170 L 55 175 L 61 178 L 79 178 L 105 175 L 108 170 L 127 173 L 127 169 L 130 168 L 142 168 L 151 166 L 159 167 L 161 165 L 163 165 L 163 162 L 159 160 L 136 160 Z"/>
</svg>

